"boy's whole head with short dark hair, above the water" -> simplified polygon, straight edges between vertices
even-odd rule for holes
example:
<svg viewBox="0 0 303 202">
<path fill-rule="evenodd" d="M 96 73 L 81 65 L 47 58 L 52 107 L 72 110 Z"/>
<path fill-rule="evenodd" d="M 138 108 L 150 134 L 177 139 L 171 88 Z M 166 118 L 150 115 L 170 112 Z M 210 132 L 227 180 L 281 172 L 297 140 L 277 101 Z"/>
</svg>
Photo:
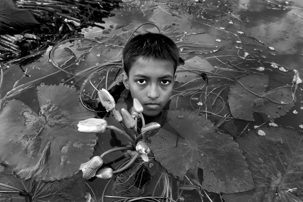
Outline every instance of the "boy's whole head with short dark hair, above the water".
<svg viewBox="0 0 303 202">
<path fill-rule="evenodd" d="M 158 33 L 130 39 L 123 49 L 122 80 L 148 116 L 158 115 L 168 102 L 175 82 L 179 52 L 175 43 Z"/>
</svg>

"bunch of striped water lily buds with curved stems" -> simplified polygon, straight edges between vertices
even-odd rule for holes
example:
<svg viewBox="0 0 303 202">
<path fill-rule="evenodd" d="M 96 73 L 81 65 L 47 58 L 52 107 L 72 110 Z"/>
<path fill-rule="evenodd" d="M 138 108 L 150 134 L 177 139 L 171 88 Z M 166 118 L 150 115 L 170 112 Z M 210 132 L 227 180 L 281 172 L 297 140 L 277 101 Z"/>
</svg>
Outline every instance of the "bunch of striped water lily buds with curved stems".
<svg viewBox="0 0 303 202">
<path fill-rule="evenodd" d="M 126 109 L 122 108 L 121 112 L 115 108 L 115 100 L 112 95 L 105 89 L 102 89 L 98 92 L 99 101 L 103 105 L 103 107 L 107 111 L 112 111 L 116 121 L 121 123 L 125 131 L 118 129 L 115 126 L 109 126 L 107 121 L 104 119 L 98 118 L 89 118 L 84 121 L 79 121 L 78 131 L 82 133 L 103 133 L 107 129 L 115 130 L 122 135 L 125 135 L 130 142 L 132 143 L 131 147 L 117 147 L 111 150 L 104 152 L 101 156 L 95 156 L 88 162 L 81 164 L 80 170 L 83 172 L 83 178 L 89 179 L 91 177 L 99 177 L 103 179 L 111 178 L 115 173 L 118 173 L 122 170 L 125 170 L 130 164 L 125 165 L 118 170 L 113 170 L 110 167 L 102 167 L 103 160 L 102 157 L 105 155 L 119 150 L 127 150 L 128 154 L 130 154 L 133 158 L 130 161 L 131 163 L 135 161 L 138 155 L 141 155 L 144 161 L 148 161 L 148 156 L 151 152 L 148 145 L 141 140 L 142 137 L 151 137 L 155 135 L 159 128 L 161 127 L 160 124 L 156 122 L 149 123 L 145 125 L 144 117 L 143 117 L 143 107 L 138 101 L 138 99 L 134 98 L 134 105 L 132 107 L 131 113 L 129 113 Z M 141 134 L 139 135 L 137 132 L 137 121 L 141 119 L 143 127 L 141 128 Z M 129 134 L 128 129 L 133 129 L 135 135 Z M 100 169 L 101 168 L 101 169 Z"/>
</svg>

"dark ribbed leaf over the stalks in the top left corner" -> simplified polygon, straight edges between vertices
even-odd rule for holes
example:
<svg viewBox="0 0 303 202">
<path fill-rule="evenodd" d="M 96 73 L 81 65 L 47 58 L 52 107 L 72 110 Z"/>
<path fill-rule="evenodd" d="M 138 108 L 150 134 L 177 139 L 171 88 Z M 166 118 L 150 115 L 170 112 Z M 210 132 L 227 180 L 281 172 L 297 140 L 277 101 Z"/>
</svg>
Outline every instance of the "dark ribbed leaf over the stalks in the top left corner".
<svg viewBox="0 0 303 202">
<path fill-rule="evenodd" d="M 20 32 L 39 25 L 29 9 L 16 8 L 12 0 L 0 2 L 0 34 Z"/>
</svg>

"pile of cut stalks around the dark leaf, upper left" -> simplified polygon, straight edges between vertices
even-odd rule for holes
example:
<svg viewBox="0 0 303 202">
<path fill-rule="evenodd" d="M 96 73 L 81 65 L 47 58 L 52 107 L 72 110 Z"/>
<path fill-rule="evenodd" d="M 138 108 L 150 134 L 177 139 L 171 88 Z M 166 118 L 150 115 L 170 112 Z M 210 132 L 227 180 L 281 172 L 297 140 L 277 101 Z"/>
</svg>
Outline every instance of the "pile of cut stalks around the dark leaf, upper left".
<svg viewBox="0 0 303 202">
<path fill-rule="evenodd" d="M 1 1 L 1 0 L 0 0 Z M 112 16 L 122 0 L 13 0 L 17 8 L 30 9 L 35 18 L 52 33 L 75 31 L 95 20 Z M 32 32 L 34 33 L 34 32 Z M 38 35 L 38 34 L 37 34 Z M 39 34 L 40 36 L 40 34 Z M 39 36 L 32 34 L 0 35 L 0 62 L 4 55 L 19 56 L 22 48 L 38 45 Z M 43 38 L 43 36 L 41 36 Z"/>
</svg>

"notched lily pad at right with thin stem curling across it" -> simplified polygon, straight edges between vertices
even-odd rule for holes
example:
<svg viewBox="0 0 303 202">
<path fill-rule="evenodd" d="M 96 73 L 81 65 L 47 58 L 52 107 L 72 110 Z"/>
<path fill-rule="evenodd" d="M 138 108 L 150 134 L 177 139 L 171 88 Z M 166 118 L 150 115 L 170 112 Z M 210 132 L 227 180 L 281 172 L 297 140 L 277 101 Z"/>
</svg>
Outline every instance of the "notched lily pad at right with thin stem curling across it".
<svg viewBox="0 0 303 202">
<path fill-rule="evenodd" d="M 290 88 L 266 91 L 268 82 L 268 75 L 251 74 L 240 78 L 230 88 L 228 102 L 234 118 L 255 121 L 253 113 L 263 112 L 274 119 L 285 115 L 294 106 Z"/>
</svg>

